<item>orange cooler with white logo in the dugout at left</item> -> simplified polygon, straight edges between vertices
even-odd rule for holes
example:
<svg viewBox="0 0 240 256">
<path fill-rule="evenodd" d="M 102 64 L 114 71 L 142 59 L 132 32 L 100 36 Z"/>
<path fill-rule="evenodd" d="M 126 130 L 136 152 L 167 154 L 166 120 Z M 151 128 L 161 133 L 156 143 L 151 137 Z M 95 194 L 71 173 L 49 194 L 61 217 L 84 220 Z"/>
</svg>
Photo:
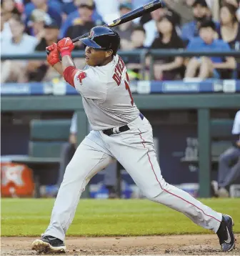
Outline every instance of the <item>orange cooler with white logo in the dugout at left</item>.
<svg viewBox="0 0 240 256">
<path fill-rule="evenodd" d="M 1 197 L 32 197 L 32 169 L 24 164 L 1 163 Z"/>
</svg>

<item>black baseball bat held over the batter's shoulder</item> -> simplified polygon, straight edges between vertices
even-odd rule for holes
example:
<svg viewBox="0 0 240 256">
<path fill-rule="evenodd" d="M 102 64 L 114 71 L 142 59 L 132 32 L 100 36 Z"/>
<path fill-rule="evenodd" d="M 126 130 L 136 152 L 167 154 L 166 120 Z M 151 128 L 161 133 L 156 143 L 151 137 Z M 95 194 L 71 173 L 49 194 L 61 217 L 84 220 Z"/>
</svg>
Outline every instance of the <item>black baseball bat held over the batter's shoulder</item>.
<svg viewBox="0 0 240 256">
<path fill-rule="evenodd" d="M 145 4 L 144 6 L 141 6 L 133 11 L 129 11 L 129 13 L 124 14 L 119 19 L 114 19 L 114 21 L 111 24 L 104 24 L 104 26 L 109 26 L 110 28 L 112 28 L 114 26 L 118 26 L 128 21 L 131 21 L 133 19 L 139 18 L 144 14 L 148 14 L 151 11 L 155 11 L 156 9 L 163 8 L 164 6 L 165 6 L 164 1 L 161 1 L 161 0 L 151 1 L 149 4 Z M 86 36 L 89 36 L 89 33 L 86 33 L 74 39 L 71 39 L 71 41 L 73 41 L 73 43 L 76 43 L 76 41 L 79 41 L 79 39 L 82 39 Z M 49 51 L 46 50 L 46 53 L 49 54 Z"/>
</svg>

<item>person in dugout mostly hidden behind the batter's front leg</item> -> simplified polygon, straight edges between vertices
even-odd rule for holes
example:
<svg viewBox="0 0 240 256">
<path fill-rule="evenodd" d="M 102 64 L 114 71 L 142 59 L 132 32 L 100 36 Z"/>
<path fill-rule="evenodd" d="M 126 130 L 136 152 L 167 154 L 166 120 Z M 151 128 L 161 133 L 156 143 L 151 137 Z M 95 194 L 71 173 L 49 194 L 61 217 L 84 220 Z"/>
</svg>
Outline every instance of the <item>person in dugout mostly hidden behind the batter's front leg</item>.
<svg viewBox="0 0 240 256">
<path fill-rule="evenodd" d="M 89 131 L 91 131 L 90 125 L 89 125 Z M 69 142 L 64 144 L 61 150 L 61 162 L 59 167 L 59 179 L 57 182 L 57 187 L 60 187 L 61 182 L 64 178 L 64 173 L 66 166 L 71 161 L 71 158 L 74 156 L 76 148 L 77 148 L 77 116 L 76 113 L 74 113 L 72 119 L 71 119 L 71 127 L 70 127 L 70 135 L 69 135 Z M 105 175 L 104 175 L 104 184 L 106 186 L 106 189 L 109 190 L 109 198 L 116 198 L 116 161 L 110 164 L 105 169 Z"/>
</svg>

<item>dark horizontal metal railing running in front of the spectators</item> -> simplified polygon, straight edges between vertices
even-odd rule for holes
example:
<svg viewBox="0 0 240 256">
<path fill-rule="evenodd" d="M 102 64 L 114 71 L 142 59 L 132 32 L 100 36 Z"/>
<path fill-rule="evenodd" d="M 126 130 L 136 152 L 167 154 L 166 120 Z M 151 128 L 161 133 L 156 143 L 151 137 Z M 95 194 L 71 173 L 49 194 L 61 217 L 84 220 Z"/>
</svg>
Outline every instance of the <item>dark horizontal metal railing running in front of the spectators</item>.
<svg viewBox="0 0 240 256">
<path fill-rule="evenodd" d="M 192 56 L 234 56 L 235 58 L 240 59 L 240 51 L 187 51 L 186 49 L 135 49 L 132 51 L 119 51 L 120 56 L 140 56 L 140 62 L 142 65 L 141 75 L 143 79 L 145 78 L 146 70 L 146 56 L 150 57 L 150 79 L 154 79 L 154 57 L 169 57 L 169 56 L 182 56 L 182 57 L 192 57 Z M 84 51 L 73 51 L 73 58 L 82 58 L 84 57 Z M 35 52 L 33 54 L 1 54 L 1 60 L 6 59 L 46 59 L 45 52 Z M 240 61 L 239 61 L 240 62 Z"/>
</svg>

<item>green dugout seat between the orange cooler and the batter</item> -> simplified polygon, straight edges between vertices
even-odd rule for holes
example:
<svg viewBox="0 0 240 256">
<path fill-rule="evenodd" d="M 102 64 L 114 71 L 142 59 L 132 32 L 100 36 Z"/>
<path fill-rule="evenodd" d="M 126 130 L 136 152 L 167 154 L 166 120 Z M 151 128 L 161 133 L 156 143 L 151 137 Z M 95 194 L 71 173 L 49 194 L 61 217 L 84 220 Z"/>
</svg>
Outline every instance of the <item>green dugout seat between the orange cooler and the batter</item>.
<svg viewBox="0 0 240 256">
<path fill-rule="evenodd" d="M 29 155 L 11 162 L 26 164 L 34 171 L 35 197 L 41 184 L 56 184 L 62 145 L 69 139 L 71 119 L 31 120 Z"/>
</svg>

